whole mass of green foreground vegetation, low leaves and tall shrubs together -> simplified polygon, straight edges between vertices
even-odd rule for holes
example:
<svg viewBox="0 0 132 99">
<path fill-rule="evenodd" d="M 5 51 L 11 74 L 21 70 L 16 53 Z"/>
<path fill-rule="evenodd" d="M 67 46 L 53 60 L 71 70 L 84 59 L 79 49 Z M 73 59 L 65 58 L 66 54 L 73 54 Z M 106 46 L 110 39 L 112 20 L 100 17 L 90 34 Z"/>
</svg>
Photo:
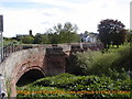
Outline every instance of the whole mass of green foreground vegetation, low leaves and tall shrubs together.
<svg viewBox="0 0 132 99">
<path fill-rule="evenodd" d="M 77 97 L 129 99 L 132 46 L 122 45 L 106 53 L 84 52 L 72 55 L 72 74 L 45 77 L 18 88 L 18 97 Z M 25 91 L 25 92 L 23 92 Z M 33 92 L 34 91 L 34 92 Z"/>
</svg>

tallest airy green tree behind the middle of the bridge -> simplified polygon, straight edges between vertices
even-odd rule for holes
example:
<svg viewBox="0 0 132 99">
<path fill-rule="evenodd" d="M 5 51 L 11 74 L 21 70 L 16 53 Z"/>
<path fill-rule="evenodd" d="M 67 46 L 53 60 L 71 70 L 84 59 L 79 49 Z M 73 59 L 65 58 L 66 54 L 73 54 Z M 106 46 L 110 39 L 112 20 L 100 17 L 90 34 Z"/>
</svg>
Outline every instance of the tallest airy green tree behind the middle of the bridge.
<svg viewBox="0 0 132 99">
<path fill-rule="evenodd" d="M 57 43 L 72 43 L 79 41 L 77 34 L 77 25 L 66 22 L 64 25 L 58 23 L 53 29 L 47 30 L 48 38 L 52 44 Z"/>
</svg>

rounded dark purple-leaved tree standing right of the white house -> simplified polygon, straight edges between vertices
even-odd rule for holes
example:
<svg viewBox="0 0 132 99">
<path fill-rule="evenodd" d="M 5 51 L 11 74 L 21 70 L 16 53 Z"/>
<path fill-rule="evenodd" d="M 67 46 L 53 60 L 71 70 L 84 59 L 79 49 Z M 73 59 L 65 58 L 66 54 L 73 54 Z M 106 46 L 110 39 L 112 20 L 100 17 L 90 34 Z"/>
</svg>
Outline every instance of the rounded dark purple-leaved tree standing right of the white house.
<svg viewBox="0 0 132 99">
<path fill-rule="evenodd" d="M 124 24 L 118 20 L 102 20 L 98 24 L 100 41 L 105 44 L 105 48 L 109 48 L 109 45 L 121 45 L 125 41 L 127 31 Z"/>
</svg>

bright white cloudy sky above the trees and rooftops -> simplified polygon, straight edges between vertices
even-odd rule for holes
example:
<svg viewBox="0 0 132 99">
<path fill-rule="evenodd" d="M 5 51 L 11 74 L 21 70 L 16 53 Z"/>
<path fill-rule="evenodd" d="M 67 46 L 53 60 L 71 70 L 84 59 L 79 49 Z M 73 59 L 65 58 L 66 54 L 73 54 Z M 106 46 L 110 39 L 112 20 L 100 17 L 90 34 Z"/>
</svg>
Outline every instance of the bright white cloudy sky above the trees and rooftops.
<svg viewBox="0 0 132 99">
<path fill-rule="evenodd" d="M 45 33 L 57 23 L 70 22 L 78 33 L 97 33 L 101 20 L 121 21 L 130 29 L 131 0 L 0 0 L 3 36 Z"/>
</svg>

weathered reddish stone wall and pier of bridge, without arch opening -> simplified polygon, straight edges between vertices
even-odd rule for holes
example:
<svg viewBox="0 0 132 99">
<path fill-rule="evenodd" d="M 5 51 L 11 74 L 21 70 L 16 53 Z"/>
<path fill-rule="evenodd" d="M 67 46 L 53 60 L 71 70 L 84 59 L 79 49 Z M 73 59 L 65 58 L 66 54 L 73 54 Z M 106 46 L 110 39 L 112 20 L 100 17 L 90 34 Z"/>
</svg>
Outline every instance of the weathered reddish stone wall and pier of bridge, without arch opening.
<svg viewBox="0 0 132 99">
<path fill-rule="evenodd" d="M 10 81 L 11 97 L 16 96 L 15 85 L 29 70 L 37 69 L 45 76 L 65 73 L 65 53 L 46 54 L 45 48 L 31 48 L 12 53 L 1 65 L 0 73 Z M 37 74 L 36 74 L 37 75 Z"/>
</svg>

